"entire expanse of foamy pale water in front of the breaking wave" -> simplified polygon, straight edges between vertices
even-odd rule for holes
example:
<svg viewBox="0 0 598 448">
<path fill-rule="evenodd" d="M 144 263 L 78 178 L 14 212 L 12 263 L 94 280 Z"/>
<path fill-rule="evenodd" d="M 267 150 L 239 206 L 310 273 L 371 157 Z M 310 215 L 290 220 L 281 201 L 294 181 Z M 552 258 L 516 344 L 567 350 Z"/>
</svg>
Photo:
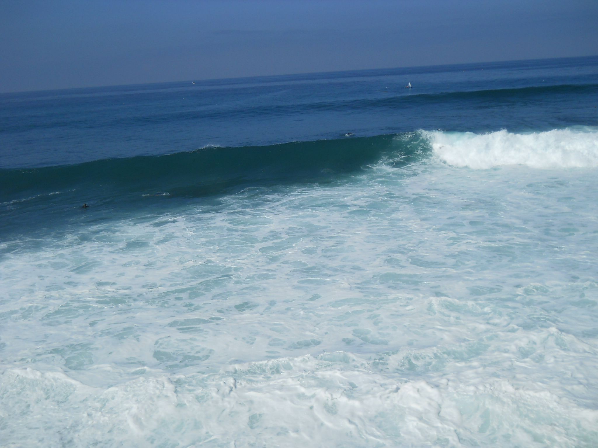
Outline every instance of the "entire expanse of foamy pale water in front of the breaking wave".
<svg viewBox="0 0 598 448">
<path fill-rule="evenodd" d="M 591 446 L 597 195 L 426 160 L 0 241 L 2 436 Z"/>
</svg>

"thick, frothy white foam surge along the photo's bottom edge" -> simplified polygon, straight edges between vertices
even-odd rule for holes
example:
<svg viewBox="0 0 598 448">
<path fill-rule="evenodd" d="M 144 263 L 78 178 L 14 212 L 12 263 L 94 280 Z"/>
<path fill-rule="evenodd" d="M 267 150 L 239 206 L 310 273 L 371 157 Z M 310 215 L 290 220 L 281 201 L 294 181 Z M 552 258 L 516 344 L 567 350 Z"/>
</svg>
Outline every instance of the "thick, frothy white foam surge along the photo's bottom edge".
<svg viewBox="0 0 598 448">
<path fill-rule="evenodd" d="M 591 446 L 598 411 L 541 383 L 469 375 L 401 378 L 344 352 L 146 376 L 93 388 L 32 369 L 0 375 L 3 431 L 69 446 Z M 263 375 L 269 372 L 269 375 Z M 473 381 L 472 381 L 473 380 Z M 329 443 L 328 443 L 329 444 Z"/>
</svg>

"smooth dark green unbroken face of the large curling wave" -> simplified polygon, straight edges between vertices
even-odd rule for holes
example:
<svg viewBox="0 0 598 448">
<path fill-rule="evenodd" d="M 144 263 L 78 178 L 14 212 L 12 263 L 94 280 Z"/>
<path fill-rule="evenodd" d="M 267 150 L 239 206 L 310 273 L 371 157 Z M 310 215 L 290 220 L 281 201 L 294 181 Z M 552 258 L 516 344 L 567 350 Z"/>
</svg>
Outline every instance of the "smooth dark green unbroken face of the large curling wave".
<svg viewBox="0 0 598 448">
<path fill-rule="evenodd" d="M 392 155 L 425 149 L 418 133 L 292 142 L 241 148 L 210 147 L 158 157 L 104 159 L 77 165 L 0 170 L 2 202 L 66 189 L 110 194 L 167 191 L 202 197 L 277 183 L 322 182 Z M 415 146 L 415 148 L 413 147 Z"/>
</svg>

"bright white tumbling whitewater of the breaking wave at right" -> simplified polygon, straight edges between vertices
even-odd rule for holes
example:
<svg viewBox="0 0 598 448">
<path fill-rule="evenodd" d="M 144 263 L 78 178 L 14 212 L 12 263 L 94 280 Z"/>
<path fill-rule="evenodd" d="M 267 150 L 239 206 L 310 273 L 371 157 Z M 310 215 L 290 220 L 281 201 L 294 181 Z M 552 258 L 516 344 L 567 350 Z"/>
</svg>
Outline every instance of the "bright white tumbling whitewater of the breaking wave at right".
<svg viewBox="0 0 598 448">
<path fill-rule="evenodd" d="M 434 154 L 456 167 L 488 169 L 503 165 L 532 168 L 598 167 L 598 130 L 555 129 L 515 134 L 428 131 Z"/>
</svg>

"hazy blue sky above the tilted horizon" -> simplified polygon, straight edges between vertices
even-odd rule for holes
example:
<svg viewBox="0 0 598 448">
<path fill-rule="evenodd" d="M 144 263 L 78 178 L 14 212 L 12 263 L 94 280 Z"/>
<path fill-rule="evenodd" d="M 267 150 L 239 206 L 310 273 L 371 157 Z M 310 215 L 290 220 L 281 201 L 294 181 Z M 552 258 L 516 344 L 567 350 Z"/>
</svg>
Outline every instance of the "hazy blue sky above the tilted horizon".
<svg viewBox="0 0 598 448">
<path fill-rule="evenodd" d="M 597 0 L 0 0 L 0 92 L 597 54 Z"/>
</svg>

